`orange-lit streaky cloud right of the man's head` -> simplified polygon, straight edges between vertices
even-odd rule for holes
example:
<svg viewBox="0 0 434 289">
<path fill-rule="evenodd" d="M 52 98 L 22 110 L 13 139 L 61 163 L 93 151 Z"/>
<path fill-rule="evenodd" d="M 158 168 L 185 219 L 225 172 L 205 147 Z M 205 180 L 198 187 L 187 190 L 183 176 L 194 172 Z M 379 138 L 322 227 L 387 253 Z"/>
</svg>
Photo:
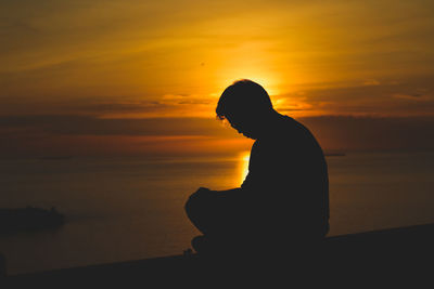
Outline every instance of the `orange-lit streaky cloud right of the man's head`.
<svg viewBox="0 0 434 289">
<path fill-rule="evenodd" d="M 434 115 L 434 82 L 432 77 L 427 76 L 375 80 L 375 82 L 370 81 L 369 86 L 343 82 L 311 86 L 311 88 L 295 87 L 293 90 L 292 93 L 277 95 L 276 104 L 278 109 L 279 107 L 303 108 L 303 111 L 295 113 L 297 117 Z"/>
</svg>

